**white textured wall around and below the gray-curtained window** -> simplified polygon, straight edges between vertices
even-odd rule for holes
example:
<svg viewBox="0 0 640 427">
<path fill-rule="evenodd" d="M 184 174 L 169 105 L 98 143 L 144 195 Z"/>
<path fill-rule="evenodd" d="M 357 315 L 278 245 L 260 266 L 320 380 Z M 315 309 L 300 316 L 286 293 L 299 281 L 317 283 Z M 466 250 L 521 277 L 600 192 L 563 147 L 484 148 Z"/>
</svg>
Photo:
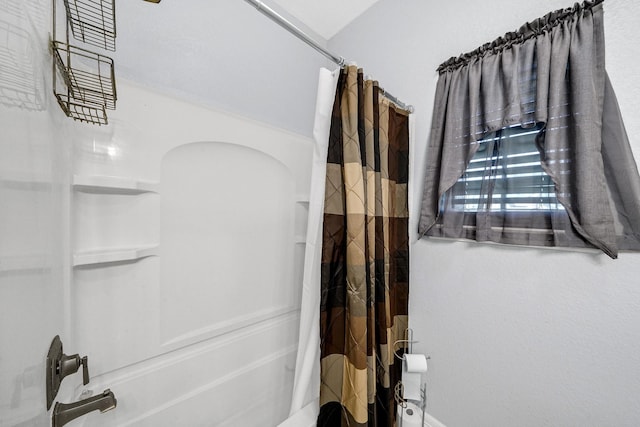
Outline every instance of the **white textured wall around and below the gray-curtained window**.
<svg viewBox="0 0 640 427">
<path fill-rule="evenodd" d="M 382 0 L 330 40 L 416 107 L 416 205 L 436 67 L 572 2 Z M 607 68 L 640 160 L 637 2 L 605 2 Z M 428 410 L 449 427 L 637 426 L 640 254 L 429 239 L 412 245 L 410 323 L 431 356 Z"/>
</svg>

